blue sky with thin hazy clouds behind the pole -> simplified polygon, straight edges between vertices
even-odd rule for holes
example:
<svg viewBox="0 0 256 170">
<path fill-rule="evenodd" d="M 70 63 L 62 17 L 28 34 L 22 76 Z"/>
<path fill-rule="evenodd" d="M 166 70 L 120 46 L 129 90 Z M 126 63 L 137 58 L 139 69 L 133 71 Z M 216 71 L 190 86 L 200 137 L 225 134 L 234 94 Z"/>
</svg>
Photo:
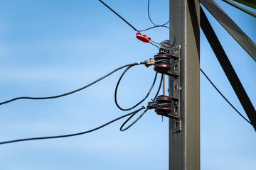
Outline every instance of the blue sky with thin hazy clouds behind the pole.
<svg viewBox="0 0 256 170">
<path fill-rule="evenodd" d="M 151 26 L 147 0 L 105 2 L 137 29 Z M 223 1 L 217 3 L 256 42 L 256 19 Z M 256 106 L 256 62 L 206 15 Z M 166 22 L 169 1 L 152 0 L 151 18 Z M 135 35 L 99 1 L 1 1 L 0 100 L 72 91 L 158 52 Z M 157 28 L 146 35 L 160 42 L 169 38 L 169 30 Z M 247 117 L 202 32 L 201 68 Z M 119 117 L 124 113 L 114 106 L 114 86 L 120 74 L 63 98 L 0 106 L 0 140 L 81 132 Z M 131 69 L 120 84 L 120 105 L 129 107 L 143 98 L 153 79 L 152 67 Z M 155 93 L 156 87 L 149 98 Z M 149 111 L 134 127 L 120 132 L 123 121 L 78 137 L 1 145 L 0 169 L 168 169 L 168 119 L 162 122 Z M 255 169 L 255 143 L 252 126 L 201 75 L 201 169 Z"/>
</svg>

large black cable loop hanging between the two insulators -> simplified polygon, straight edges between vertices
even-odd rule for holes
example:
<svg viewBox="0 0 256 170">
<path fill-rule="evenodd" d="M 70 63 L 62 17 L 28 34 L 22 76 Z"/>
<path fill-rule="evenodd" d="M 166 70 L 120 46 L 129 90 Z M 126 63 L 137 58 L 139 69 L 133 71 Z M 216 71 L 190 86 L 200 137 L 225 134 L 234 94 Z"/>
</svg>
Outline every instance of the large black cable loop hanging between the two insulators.
<svg viewBox="0 0 256 170">
<path fill-rule="evenodd" d="M 122 73 L 122 75 L 120 76 L 119 80 L 117 81 L 117 86 L 114 90 L 114 103 L 116 104 L 117 108 L 119 108 L 120 110 L 122 111 L 130 111 L 132 110 L 133 108 L 136 108 L 137 106 L 139 106 L 140 103 L 142 103 L 143 101 L 146 100 L 146 98 L 149 96 L 151 90 L 153 89 L 154 87 L 154 84 L 156 83 L 156 77 L 157 77 L 157 72 L 156 72 L 156 75 L 154 77 L 154 81 L 153 81 L 153 84 L 151 85 L 150 89 L 149 89 L 149 92 L 146 94 L 146 96 L 142 99 L 142 101 L 139 101 L 137 104 L 135 104 L 134 106 L 132 106 L 131 108 L 122 108 L 121 106 L 119 106 L 118 102 L 117 102 L 117 89 L 118 89 L 118 86 L 119 86 L 119 83 L 120 81 L 122 80 L 122 77 L 124 77 L 124 74 L 130 69 L 132 68 L 133 66 L 129 66 L 127 67 L 127 69 L 124 70 L 124 72 Z"/>
</svg>

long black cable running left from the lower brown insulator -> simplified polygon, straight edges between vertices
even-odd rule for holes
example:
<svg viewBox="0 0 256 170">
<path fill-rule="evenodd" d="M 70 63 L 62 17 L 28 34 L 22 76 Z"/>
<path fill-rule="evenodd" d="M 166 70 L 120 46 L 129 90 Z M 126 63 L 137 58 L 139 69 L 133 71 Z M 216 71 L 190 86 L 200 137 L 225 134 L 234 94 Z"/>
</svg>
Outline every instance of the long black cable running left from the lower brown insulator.
<svg viewBox="0 0 256 170">
<path fill-rule="evenodd" d="M 78 136 L 78 135 L 83 135 L 89 132 L 93 132 L 95 130 L 98 130 L 100 128 L 105 127 L 106 125 L 110 125 L 110 123 L 114 123 L 115 121 L 122 119 L 124 117 L 127 117 L 128 115 L 132 115 L 132 114 L 136 114 L 139 111 L 142 111 L 143 109 L 145 109 L 146 106 L 142 106 L 142 108 L 137 109 L 136 111 L 133 111 L 132 113 L 128 113 L 126 115 L 122 115 L 119 118 L 116 118 L 114 120 L 111 120 L 108 123 L 105 123 L 104 125 L 101 125 L 97 128 L 94 128 L 92 130 L 87 130 L 85 132 L 78 132 L 78 133 L 73 133 L 73 134 L 69 134 L 69 135 L 58 135 L 58 136 L 50 136 L 50 137 L 31 137 L 31 138 L 25 138 L 25 139 L 20 139 L 20 140 L 9 140 L 9 141 L 5 141 L 5 142 L 0 142 L 0 145 L 4 145 L 4 144 L 8 144 L 8 143 L 14 143 L 14 142 L 22 142 L 22 141 L 28 141 L 28 140 L 48 140 L 48 139 L 55 139 L 55 138 L 62 138 L 62 137 L 72 137 L 72 136 Z"/>
</svg>

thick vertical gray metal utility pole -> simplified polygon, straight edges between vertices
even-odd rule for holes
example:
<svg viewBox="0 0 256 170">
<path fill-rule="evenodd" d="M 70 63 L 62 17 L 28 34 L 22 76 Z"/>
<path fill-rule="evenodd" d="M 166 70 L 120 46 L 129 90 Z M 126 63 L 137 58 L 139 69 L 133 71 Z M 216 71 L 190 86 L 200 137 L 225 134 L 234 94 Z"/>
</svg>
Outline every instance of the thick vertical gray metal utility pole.
<svg viewBox="0 0 256 170">
<path fill-rule="evenodd" d="M 200 6 L 198 0 L 170 0 L 170 27 L 181 45 L 181 122 L 169 120 L 169 169 L 200 169 Z M 170 40 L 173 40 L 170 33 Z M 172 78 L 169 78 L 170 96 Z M 174 132 L 181 126 L 179 132 Z"/>
</svg>

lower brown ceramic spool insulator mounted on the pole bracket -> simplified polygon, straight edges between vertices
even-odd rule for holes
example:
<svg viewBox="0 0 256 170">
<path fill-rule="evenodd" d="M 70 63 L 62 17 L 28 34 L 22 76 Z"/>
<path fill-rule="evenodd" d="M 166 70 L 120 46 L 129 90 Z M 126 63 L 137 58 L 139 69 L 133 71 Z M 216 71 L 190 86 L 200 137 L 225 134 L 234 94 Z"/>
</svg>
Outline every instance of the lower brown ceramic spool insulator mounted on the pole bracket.
<svg viewBox="0 0 256 170">
<path fill-rule="evenodd" d="M 157 96 L 156 101 L 158 107 L 155 109 L 155 112 L 158 115 L 168 116 L 171 113 L 171 97 L 170 96 Z"/>
</svg>

